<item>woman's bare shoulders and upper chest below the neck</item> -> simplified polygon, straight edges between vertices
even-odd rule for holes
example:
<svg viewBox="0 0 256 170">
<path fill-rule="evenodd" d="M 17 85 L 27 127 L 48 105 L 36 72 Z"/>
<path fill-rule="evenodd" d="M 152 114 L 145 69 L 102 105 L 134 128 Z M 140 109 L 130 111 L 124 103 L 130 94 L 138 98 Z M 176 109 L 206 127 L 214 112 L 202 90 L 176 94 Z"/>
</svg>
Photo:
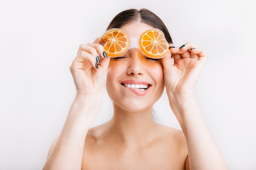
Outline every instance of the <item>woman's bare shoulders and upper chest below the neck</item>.
<svg viewBox="0 0 256 170">
<path fill-rule="evenodd" d="M 83 150 L 83 170 L 118 169 L 125 165 L 143 165 L 141 169 L 148 166 L 154 169 L 184 169 L 187 149 L 181 130 L 155 124 L 152 138 L 135 149 L 123 144 L 109 126 L 102 124 L 88 131 Z"/>
</svg>

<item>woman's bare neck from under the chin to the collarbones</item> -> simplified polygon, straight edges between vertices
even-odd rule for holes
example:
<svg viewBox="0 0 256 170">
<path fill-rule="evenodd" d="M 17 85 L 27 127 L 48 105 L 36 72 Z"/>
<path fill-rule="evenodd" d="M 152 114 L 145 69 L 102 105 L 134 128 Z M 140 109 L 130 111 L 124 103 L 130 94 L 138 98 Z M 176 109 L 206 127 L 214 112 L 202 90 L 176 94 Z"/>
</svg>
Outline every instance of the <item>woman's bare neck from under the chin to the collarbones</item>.
<svg viewBox="0 0 256 170">
<path fill-rule="evenodd" d="M 129 112 L 114 104 L 110 120 L 116 137 L 126 144 L 140 145 L 152 139 L 156 123 L 152 118 L 153 106 L 139 112 Z"/>
</svg>

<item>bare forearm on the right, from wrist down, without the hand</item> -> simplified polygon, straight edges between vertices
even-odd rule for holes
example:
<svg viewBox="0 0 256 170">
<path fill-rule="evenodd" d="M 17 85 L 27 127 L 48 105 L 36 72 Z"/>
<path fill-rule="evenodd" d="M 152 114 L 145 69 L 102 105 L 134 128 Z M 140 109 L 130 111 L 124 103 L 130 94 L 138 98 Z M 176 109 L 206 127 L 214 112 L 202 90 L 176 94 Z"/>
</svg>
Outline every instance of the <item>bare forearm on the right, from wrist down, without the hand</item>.
<svg viewBox="0 0 256 170">
<path fill-rule="evenodd" d="M 194 97 L 178 97 L 172 104 L 180 114 L 179 122 L 187 141 L 190 169 L 227 170 Z"/>
</svg>

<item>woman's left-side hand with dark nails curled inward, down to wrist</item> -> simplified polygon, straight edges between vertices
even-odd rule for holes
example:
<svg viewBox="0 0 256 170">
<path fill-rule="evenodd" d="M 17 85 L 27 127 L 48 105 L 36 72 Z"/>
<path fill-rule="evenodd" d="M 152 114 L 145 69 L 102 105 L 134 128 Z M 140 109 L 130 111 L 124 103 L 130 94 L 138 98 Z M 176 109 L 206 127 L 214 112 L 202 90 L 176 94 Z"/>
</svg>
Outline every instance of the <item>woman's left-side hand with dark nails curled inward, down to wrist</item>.
<svg viewBox="0 0 256 170">
<path fill-rule="evenodd" d="M 79 46 L 77 56 L 70 64 L 76 95 L 94 97 L 103 95 L 109 61 L 110 58 L 101 45 L 101 38 L 97 38 L 93 43 Z"/>
</svg>

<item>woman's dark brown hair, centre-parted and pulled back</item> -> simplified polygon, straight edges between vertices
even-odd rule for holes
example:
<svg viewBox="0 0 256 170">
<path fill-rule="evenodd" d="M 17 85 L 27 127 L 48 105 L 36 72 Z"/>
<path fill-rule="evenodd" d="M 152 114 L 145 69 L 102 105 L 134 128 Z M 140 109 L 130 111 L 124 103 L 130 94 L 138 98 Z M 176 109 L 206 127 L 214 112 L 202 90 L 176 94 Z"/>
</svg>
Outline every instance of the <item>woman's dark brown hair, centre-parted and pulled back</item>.
<svg viewBox="0 0 256 170">
<path fill-rule="evenodd" d="M 112 28 L 121 28 L 130 22 L 143 22 L 153 26 L 154 28 L 160 29 L 164 33 L 168 43 L 173 43 L 171 35 L 164 22 L 155 13 L 144 8 L 140 10 L 128 9 L 120 12 L 112 19 L 107 30 Z"/>
</svg>

